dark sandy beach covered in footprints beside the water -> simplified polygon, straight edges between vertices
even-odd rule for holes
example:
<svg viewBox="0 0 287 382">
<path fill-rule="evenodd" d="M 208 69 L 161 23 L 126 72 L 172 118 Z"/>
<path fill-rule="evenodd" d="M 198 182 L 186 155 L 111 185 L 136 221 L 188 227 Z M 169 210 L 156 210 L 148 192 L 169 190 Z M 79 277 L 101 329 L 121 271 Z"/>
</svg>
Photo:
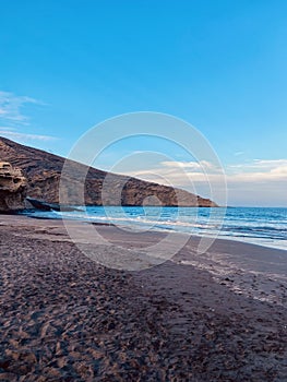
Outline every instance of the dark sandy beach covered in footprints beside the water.
<svg viewBox="0 0 287 382">
<path fill-rule="evenodd" d="M 119 254 L 164 237 L 95 227 Z M 85 255 L 61 220 L 2 215 L 0 238 L 1 381 L 287 380 L 284 250 L 215 240 L 198 254 L 190 237 L 130 271 Z"/>
</svg>

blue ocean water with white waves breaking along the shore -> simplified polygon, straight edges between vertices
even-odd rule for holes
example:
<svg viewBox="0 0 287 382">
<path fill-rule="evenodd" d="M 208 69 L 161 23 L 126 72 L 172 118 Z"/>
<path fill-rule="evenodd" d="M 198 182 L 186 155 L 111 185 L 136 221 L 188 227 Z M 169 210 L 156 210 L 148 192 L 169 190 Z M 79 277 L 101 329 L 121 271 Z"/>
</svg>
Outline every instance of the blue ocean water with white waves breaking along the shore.
<svg viewBox="0 0 287 382">
<path fill-rule="evenodd" d="M 80 207 L 81 208 L 81 207 Z M 26 211 L 25 215 L 110 223 L 131 230 L 172 230 L 287 250 L 287 208 L 88 206 L 74 212 Z"/>
</svg>

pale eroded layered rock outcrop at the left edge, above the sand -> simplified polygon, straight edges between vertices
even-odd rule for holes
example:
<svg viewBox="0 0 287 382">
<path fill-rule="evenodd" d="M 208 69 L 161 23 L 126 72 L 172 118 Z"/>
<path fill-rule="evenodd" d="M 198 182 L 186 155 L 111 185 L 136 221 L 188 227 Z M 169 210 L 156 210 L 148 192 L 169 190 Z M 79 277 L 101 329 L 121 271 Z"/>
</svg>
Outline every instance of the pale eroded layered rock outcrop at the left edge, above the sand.
<svg viewBox="0 0 287 382">
<path fill-rule="evenodd" d="M 0 212 L 24 208 L 27 181 L 20 168 L 0 162 Z"/>
</svg>

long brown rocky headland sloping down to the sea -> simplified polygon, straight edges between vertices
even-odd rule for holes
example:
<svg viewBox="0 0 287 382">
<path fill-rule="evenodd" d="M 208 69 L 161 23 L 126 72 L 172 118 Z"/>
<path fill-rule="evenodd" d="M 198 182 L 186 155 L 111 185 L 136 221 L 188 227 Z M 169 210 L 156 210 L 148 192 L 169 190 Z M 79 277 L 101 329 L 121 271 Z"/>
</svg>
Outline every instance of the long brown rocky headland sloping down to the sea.
<svg viewBox="0 0 287 382">
<path fill-rule="evenodd" d="M 23 170 L 27 178 L 27 194 L 29 196 L 49 203 L 59 203 L 59 181 L 64 158 L 17 144 L 4 138 L 0 138 L 0 158 Z M 85 204 L 101 205 L 101 189 L 107 172 L 92 167 L 87 168 L 79 163 L 72 163 L 72 165 L 73 179 L 70 179 L 72 187 L 65 190 L 67 201 L 70 204 L 81 202 L 79 193 L 82 182 L 76 180 L 76 174 L 81 175 L 82 171 L 86 171 Z M 109 175 L 109 179 L 112 187 L 109 188 L 110 192 L 105 192 L 105 205 L 154 205 L 160 203 L 170 206 L 217 206 L 208 199 L 167 186 L 119 175 Z M 69 183 L 69 179 L 67 179 L 67 183 Z M 119 193 L 120 198 L 118 198 Z"/>
</svg>

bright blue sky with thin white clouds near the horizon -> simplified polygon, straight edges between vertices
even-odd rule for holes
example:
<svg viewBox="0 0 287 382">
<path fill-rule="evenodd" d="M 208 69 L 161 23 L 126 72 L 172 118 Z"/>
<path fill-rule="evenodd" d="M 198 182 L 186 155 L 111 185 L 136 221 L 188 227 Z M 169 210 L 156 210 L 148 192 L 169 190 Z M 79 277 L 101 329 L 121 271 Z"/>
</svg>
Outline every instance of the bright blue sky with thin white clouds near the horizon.
<svg viewBox="0 0 287 382">
<path fill-rule="evenodd" d="M 0 135 L 67 156 L 107 119 L 167 114 L 210 142 L 229 205 L 287 206 L 286 20 L 285 0 L 1 1 Z M 208 196 L 192 154 L 135 136 L 94 165 L 190 190 L 184 169 Z"/>
</svg>

